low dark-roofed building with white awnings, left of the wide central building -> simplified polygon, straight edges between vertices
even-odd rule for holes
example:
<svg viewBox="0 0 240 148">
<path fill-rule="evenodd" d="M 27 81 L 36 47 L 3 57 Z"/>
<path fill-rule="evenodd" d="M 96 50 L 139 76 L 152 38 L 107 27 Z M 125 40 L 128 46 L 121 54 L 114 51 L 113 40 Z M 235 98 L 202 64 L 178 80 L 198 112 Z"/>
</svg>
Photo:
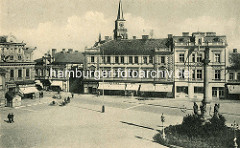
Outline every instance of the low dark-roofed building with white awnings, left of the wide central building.
<svg viewBox="0 0 240 148">
<path fill-rule="evenodd" d="M 71 70 L 76 73 L 76 69 L 81 71 L 83 68 L 84 57 L 81 52 L 73 51 L 73 49 L 62 49 L 57 52 L 46 53 L 42 58 L 36 61 L 35 78 L 38 84 L 42 85 L 46 90 L 66 91 L 66 92 L 82 92 L 82 78 L 70 76 Z"/>
</svg>

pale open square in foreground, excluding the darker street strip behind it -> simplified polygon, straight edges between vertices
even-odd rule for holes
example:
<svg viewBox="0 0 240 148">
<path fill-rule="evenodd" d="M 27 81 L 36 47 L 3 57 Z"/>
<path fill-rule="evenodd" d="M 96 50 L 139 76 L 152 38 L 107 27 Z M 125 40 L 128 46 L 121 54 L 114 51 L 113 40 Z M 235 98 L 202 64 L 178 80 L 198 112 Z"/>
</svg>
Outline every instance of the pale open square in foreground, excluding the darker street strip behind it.
<svg viewBox="0 0 240 148">
<path fill-rule="evenodd" d="M 101 105 L 82 102 L 76 96 L 64 107 L 46 102 L 2 110 L 0 147 L 164 147 L 152 141 L 160 128 L 150 120 L 156 115 L 115 107 L 101 113 Z M 9 112 L 14 123 L 7 123 Z"/>
</svg>

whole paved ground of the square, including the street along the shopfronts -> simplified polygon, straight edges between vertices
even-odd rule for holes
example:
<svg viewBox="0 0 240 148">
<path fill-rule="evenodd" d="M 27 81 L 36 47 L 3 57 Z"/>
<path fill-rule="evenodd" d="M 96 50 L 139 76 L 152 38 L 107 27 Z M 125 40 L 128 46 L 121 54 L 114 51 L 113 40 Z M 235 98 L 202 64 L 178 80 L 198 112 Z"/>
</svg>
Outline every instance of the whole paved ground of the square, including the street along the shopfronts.
<svg viewBox="0 0 240 148">
<path fill-rule="evenodd" d="M 134 97 L 77 95 L 65 107 L 50 106 L 54 92 L 44 98 L 23 100 L 17 108 L 1 108 L 0 147 L 163 147 L 152 137 L 165 126 L 179 124 L 192 113 L 196 100 L 159 98 L 140 101 Z M 61 93 L 64 97 L 69 95 Z M 61 101 L 61 100 L 59 100 Z M 217 100 L 230 125 L 240 122 L 240 101 Z M 200 105 L 200 100 L 197 101 Z M 101 113 L 102 105 L 106 112 Z M 6 122 L 9 112 L 13 124 Z"/>
</svg>

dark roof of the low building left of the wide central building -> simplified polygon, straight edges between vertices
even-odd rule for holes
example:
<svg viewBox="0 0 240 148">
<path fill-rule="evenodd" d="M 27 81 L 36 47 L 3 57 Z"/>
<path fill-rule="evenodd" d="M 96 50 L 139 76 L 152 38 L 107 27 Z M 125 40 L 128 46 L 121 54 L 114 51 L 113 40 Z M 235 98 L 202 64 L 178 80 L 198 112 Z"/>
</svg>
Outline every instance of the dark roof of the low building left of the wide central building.
<svg viewBox="0 0 240 148">
<path fill-rule="evenodd" d="M 54 55 L 55 61 L 53 63 L 76 63 L 82 64 L 84 56 L 81 52 L 58 52 Z"/>
</svg>

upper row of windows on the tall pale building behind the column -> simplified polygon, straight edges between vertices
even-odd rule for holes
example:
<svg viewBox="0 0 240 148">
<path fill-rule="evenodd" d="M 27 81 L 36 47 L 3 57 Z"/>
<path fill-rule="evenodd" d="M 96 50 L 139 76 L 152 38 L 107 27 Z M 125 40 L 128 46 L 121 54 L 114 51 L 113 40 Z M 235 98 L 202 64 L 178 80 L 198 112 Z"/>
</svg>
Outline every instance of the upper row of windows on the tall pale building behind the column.
<svg viewBox="0 0 240 148">
<path fill-rule="evenodd" d="M 188 57 L 189 58 L 189 57 Z M 192 62 L 202 62 L 203 55 L 197 54 L 197 60 L 196 60 L 196 54 L 192 54 Z M 179 62 L 183 63 L 185 61 L 185 55 L 184 53 L 179 54 Z M 220 53 L 216 53 L 214 55 L 214 62 L 220 63 Z"/>
</svg>

